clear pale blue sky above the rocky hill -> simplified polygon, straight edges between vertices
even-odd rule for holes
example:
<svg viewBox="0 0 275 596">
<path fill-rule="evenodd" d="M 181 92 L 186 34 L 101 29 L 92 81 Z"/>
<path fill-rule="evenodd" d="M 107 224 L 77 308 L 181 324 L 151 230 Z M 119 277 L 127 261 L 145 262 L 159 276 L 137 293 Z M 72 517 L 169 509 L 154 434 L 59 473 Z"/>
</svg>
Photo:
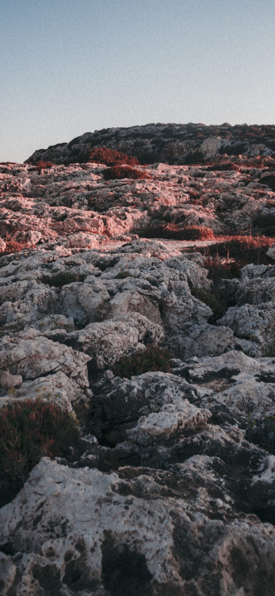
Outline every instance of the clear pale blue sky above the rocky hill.
<svg viewBox="0 0 275 596">
<path fill-rule="evenodd" d="M 274 0 L 0 0 L 0 162 L 149 122 L 275 123 Z"/>
</svg>

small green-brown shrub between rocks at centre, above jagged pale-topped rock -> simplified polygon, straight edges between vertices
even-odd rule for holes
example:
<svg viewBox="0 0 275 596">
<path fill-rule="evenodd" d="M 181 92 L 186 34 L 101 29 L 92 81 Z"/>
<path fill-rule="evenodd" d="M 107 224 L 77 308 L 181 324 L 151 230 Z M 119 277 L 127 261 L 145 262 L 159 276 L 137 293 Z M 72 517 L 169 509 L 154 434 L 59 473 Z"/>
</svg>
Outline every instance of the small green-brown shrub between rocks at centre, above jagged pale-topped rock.
<svg viewBox="0 0 275 596">
<path fill-rule="evenodd" d="M 132 356 L 124 356 L 112 367 L 116 377 L 131 378 L 149 371 L 170 373 L 171 354 L 159 346 L 149 344 L 146 350 L 140 350 Z"/>
</svg>

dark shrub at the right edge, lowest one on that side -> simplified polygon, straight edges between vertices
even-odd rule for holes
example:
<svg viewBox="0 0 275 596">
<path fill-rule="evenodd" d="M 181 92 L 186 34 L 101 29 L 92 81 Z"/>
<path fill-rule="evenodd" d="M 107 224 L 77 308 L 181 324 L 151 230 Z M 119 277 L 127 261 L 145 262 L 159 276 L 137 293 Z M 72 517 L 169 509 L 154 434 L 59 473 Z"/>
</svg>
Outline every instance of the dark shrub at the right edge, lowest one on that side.
<svg viewBox="0 0 275 596">
<path fill-rule="evenodd" d="M 275 416 L 265 416 L 263 420 L 249 419 L 245 438 L 275 455 Z"/>
</svg>

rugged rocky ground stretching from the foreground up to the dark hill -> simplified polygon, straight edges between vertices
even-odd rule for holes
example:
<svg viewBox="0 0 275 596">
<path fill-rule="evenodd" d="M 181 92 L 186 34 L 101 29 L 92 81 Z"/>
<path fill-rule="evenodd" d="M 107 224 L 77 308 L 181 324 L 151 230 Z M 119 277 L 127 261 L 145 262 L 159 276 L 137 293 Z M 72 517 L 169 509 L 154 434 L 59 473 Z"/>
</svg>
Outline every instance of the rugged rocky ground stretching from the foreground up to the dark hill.
<svg viewBox="0 0 275 596">
<path fill-rule="evenodd" d="M 108 181 L 83 137 L 0 166 L 0 406 L 87 406 L 0 509 L 0 593 L 273 596 L 274 150 Z"/>
</svg>

